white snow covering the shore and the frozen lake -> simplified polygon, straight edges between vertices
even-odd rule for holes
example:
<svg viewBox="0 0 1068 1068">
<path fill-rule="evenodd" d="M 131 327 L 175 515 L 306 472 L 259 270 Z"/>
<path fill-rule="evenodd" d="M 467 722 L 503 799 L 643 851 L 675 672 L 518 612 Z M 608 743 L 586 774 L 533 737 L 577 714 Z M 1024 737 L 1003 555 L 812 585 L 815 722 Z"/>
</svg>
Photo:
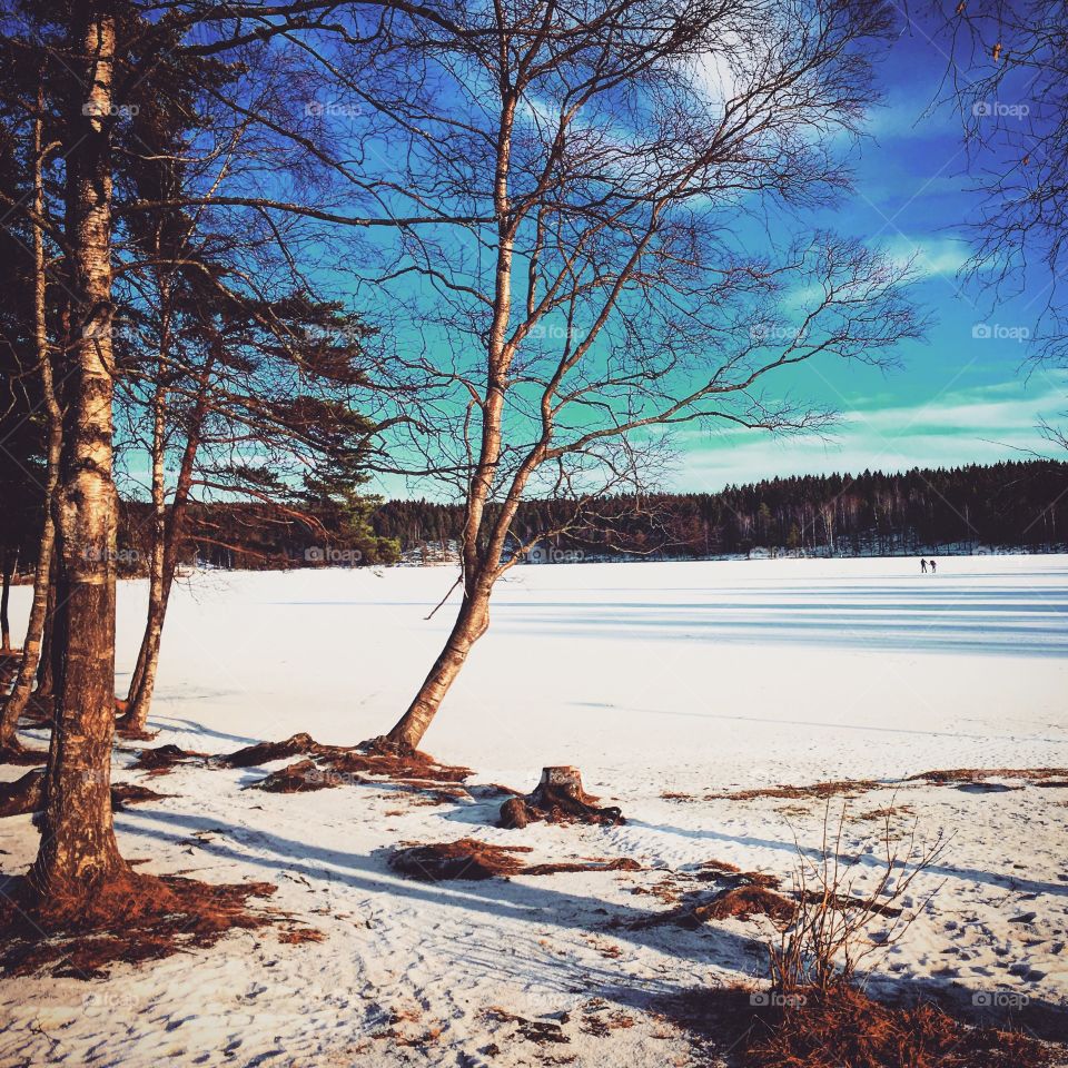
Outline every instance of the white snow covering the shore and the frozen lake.
<svg viewBox="0 0 1068 1068">
<path fill-rule="evenodd" d="M 117 814 L 144 870 L 268 879 L 276 904 L 326 933 L 270 931 L 103 982 L 0 982 L 0 1065 L 540 1065 L 700 1062 L 694 991 L 760 977 L 759 921 L 634 927 L 647 890 L 710 859 L 789 877 L 819 844 L 823 802 L 704 800 L 877 779 L 849 802 L 842 852 L 867 870 L 879 821 L 952 839 L 913 899 L 940 886 L 877 962 L 884 992 L 1024 995 L 1068 1008 L 1068 790 L 977 792 L 894 782 L 942 768 L 1068 765 L 1068 557 L 751 561 L 517 567 L 491 633 L 425 748 L 473 782 L 530 789 L 574 763 L 624 827 L 503 831 L 500 802 L 419 805 L 343 785 L 243 789 L 259 769 L 178 769 L 172 797 Z M 204 574 L 172 599 L 156 744 L 228 752 L 308 731 L 354 743 L 388 728 L 441 646 L 424 616 L 445 568 Z M 21 622 L 28 591 L 14 592 Z M 126 682 L 144 607 L 119 603 Z M 119 753 L 116 778 L 132 753 Z M 13 778 L 19 769 L 4 768 Z M 995 783 L 995 785 L 1000 785 Z M 665 799 L 663 793 L 684 798 Z M 835 802 L 838 811 L 840 801 Z M 649 869 L 427 884 L 385 866 L 400 841 L 475 835 L 532 859 L 625 856 Z M 32 859 L 29 818 L 0 825 L 3 869 Z M 870 864 L 867 866 L 870 868 Z M 538 1046 L 496 1011 L 560 1025 Z"/>
</svg>

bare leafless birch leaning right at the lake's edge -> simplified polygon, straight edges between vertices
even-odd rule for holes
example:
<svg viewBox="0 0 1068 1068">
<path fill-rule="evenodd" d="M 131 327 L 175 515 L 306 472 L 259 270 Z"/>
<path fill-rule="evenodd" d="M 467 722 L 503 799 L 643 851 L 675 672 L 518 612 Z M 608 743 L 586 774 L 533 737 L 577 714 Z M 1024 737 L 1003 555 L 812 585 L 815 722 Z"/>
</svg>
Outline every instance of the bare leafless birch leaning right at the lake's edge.
<svg viewBox="0 0 1068 1068">
<path fill-rule="evenodd" d="M 639 487 L 688 427 L 817 429 L 827 413 L 769 376 L 887 359 L 921 322 L 904 265 L 799 219 L 848 190 L 838 149 L 872 100 L 888 6 L 441 2 L 383 19 L 373 61 L 369 30 L 349 31 L 335 82 L 369 115 L 364 188 L 399 222 L 368 243 L 364 277 L 416 328 L 398 358 L 427 399 L 398 467 L 465 506 L 455 623 L 378 740 L 409 748 L 531 546 L 525 496 L 577 510 Z"/>
</svg>

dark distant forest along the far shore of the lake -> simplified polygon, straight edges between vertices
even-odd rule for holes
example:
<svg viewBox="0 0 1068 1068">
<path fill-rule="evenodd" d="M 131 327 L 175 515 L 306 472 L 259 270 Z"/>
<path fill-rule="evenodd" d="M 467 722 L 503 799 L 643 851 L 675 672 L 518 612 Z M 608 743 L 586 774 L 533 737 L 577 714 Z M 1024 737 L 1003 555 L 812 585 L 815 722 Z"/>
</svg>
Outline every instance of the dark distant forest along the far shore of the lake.
<svg viewBox="0 0 1068 1068">
<path fill-rule="evenodd" d="M 149 507 L 126 502 L 120 558 L 147 558 Z M 388 501 L 358 523 L 259 504 L 192 505 L 186 563 L 233 568 L 389 564 L 451 558 L 463 510 Z M 728 486 L 720 493 L 606 497 L 575 515 L 572 501 L 524 502 L 512 548 L 537 562 L 701 558 L 730 555 L 902 555 L 981 547 L 1049 552 L 1068 543 L 1068 464 L 1034 459 L 808 475 Z M 555 531 L 550 536 L 541 532 Z"/>
</svg>

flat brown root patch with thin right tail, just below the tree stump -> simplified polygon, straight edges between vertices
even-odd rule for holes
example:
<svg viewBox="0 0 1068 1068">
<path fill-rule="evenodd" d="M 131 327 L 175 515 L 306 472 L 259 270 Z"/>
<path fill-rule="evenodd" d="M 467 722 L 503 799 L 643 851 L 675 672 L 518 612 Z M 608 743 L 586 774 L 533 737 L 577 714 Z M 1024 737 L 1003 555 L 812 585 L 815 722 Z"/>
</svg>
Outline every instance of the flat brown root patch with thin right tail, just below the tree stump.
<svg viewBox="0 0 1068 1068">
<path fill-rule="evenodd" d="M 389 867 L 413 879 L 437 882 L 453 879 L 492 879 L 494 876 L 555 876 L 572 871 L 641 871 L 627 857 L 592 858 L 547 864 L 526 864 L 515 853 L 528 846 L 491 846 L 474 838 L 433 846 L 412 846 L 389 857 Z"/>
</svg>

